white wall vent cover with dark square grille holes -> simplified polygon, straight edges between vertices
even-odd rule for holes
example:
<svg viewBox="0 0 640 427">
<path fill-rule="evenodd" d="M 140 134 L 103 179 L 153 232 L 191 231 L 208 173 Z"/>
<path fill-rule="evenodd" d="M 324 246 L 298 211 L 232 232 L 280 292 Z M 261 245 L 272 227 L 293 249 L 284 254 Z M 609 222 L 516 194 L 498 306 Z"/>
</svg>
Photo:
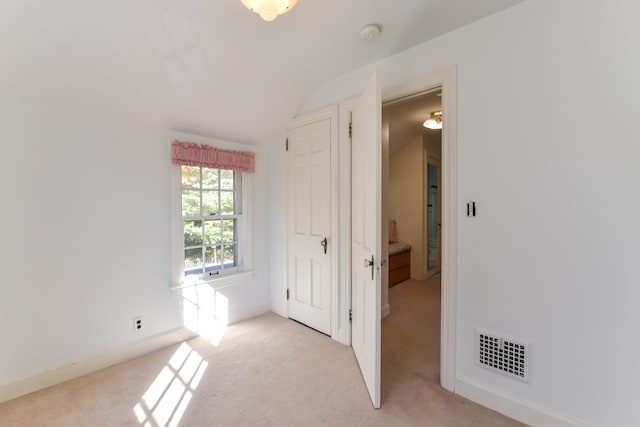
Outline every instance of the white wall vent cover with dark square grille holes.
<svg viewBox="0 0 640 427">
<path fill-rule="evenodd" d="M 530 347 L 529 342 L 476 329 L 476 363 L 526 382 L 531 381 Z"/>
</svg>

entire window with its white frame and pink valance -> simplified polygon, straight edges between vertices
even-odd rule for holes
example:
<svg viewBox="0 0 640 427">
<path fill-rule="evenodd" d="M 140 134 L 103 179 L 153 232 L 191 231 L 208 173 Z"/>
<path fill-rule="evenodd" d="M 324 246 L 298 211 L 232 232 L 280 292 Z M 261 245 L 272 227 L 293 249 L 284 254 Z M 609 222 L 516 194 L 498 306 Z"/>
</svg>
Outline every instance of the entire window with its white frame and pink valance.
<svg viewBox="0 0 640 427">
<path fill-rule="evenodd" d="M 171 143 L 172 290 L 241 283 L 252 269 L 255 153 Z"/>
</svg>

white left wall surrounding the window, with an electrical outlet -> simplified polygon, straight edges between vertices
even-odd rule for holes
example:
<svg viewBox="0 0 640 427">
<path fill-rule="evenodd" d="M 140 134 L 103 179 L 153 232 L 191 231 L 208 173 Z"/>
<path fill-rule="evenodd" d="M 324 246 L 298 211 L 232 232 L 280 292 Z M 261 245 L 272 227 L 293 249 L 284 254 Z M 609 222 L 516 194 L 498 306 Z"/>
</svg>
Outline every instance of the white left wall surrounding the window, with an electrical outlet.
<svg viewBox="0 0 640 427">
<path fill-rule="evenodd" d="M 0 136 L 0 383 L 182 326 L 170 142 L 243 147 L 19 104 L 0 105 Z M 223 290 L 235 319 L 269 305 L 270 166 L 250 149 L 256 275 Z"/>
</svg>

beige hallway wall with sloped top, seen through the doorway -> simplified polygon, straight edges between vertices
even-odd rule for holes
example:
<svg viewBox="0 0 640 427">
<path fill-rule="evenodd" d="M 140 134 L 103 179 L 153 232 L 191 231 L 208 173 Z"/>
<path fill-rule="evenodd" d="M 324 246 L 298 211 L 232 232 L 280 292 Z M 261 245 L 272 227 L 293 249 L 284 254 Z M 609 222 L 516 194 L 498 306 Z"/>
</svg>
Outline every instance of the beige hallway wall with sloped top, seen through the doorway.
<svg viewBox="0 0 640 427">
<path fill-rule="evenodd" d="M 411 278 L 423 280 L 424 145 L 422 135 L 389 158 L 389 219 L 398 223 L 398 239 L 411 245 Z"/>
</svg>

